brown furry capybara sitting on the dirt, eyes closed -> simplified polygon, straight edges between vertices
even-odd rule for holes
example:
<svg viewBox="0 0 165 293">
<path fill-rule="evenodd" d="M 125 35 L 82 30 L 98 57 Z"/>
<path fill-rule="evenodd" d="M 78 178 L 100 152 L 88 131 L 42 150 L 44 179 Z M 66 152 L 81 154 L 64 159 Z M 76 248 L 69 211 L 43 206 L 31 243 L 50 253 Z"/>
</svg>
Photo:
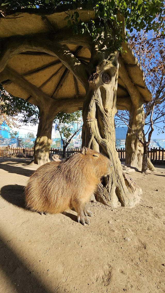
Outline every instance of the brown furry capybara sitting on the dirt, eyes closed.
<svg viewBox="0 0 165 293">
<path fill-rule="evenodd" d="M 95 192 L 100 178 L 112 171 L 112 161 L 88 149 L 63 162 L 50 162 L 39 167 L 25 188 L 26 207 L 41 214 L 57 214 L 74 208 L 78 222 L 89 224 L 86 202 Z"/>
</svg>

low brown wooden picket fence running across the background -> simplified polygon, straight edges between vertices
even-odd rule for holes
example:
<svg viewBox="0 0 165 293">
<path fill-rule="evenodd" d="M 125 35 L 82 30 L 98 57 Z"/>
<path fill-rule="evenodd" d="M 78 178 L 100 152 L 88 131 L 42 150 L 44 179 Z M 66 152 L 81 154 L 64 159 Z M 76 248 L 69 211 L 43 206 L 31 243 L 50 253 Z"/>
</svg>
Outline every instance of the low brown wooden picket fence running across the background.
<svg viewBox="0 0 165 293">
<path fill-rule="evenodd" d="M 70 157 L 73 154 L 77 153 L 81 149 L 66 149 L 66 156 Z M 125 149 L 116 149 L 119 155 L 120 161 L 125 161 Z M 9 148 L 9 147 L 0 147 L 0 157 L 18 157 L 18 158 L 33 158 L 33 148 Z M 50 148 L 50 154 L 58 154 L 62 156 L 62 149 Z M 148 157 L 154 164 L 165 164 L 165 150 L 164 149 L 148 149 Z"/>
</svg>

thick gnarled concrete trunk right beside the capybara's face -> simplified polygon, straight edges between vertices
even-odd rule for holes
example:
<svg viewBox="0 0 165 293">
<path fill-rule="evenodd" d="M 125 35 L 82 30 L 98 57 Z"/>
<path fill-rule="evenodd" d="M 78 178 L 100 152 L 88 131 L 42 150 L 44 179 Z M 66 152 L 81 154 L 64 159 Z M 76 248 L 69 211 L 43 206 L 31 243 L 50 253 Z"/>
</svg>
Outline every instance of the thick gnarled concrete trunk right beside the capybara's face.
<svg viewBox="0 0 165 293">
<path fill-rule="evenodd" d="M 95 55 L 96 57 L 96 55 Z M 100 59 L 98 56 L 98 61 Z M 116 91 L 118 84 L 118 52 L 109 60 L 102 60 L 89 78 L 86 100 L 83 106 L 82 146 L 100 151 L 113 161 L 113 171 L 98 186 L 96 199 L 112 207 L 134 205 L 138 189 L 127 188 L 121 163 L 115 149 L 114 115 L 117 112 Z M 131 192 L 130 192 L 131 191 Z M 133 194 L 134 193 L 134 194 Z"/>
</svg>

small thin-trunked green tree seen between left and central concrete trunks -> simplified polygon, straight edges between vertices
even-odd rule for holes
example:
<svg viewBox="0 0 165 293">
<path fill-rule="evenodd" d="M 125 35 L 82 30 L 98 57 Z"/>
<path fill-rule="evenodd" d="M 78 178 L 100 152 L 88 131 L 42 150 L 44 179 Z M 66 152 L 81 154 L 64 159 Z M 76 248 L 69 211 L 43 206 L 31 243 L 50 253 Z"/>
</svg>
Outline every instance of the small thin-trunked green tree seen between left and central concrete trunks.
<svg viewBox="0 0 165 293">
<path fill-rule="evenodd" d="M 62 157 L 65 158 L 66 148 L 71 142 L 71 139 L 82 130 L 82 111 L 69 114 L 59 112 L 55 117 L 54 123 L 62 139 Z"/>
</svg>

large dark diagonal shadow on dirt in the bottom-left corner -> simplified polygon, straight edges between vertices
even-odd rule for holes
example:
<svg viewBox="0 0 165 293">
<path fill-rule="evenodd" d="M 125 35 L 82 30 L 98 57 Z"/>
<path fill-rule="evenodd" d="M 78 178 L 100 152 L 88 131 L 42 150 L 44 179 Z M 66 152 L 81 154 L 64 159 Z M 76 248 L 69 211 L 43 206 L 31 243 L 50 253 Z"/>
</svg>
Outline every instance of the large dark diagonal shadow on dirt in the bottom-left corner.
<svg viewBox="0 0 165 293">
<path fill-rule="evenodd" d="M 9 284 L 11 283 L 11 291 L 18 293 L 52 293 L 54 289 L 45 288 L 41 281 L 35 274 L 19 260 L 17 255 L 4 243 L 0 238 L 0 268 L 6 275 Z M 27 264 L 28 265 L 28 264 Z M 38 275 L 39 276 L 39 275 Z M 41 276 L 42 277 L 42 276 Z M 56 292 L 60 293 L 61 290 L 57 289 Z"/>
</svg>

